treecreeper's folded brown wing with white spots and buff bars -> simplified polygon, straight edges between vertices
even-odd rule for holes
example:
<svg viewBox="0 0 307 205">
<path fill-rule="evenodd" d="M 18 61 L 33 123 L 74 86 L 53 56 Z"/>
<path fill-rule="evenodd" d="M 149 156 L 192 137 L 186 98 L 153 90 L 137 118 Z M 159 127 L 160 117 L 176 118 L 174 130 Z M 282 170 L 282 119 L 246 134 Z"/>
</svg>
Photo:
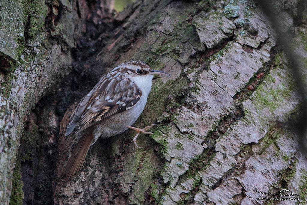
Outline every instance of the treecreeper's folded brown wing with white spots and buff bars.
<svg viewBox="0 0 307 205">
<path fill-rule="evenodd" d="M 79 120 L 77 122 L 79 122 L 79 128 L 76 133 L 99 123 L 115 113 L 132 108 L 142 96 L 142 91 L 135 83 L 126 78 L 117 84 L 115 84 L 114 79 L 109 82 L 107 81 L 99 89 L 100 95 L 92 96 L 88 100 L 86 108 L 82 108 L 82 114 L 78 115 Z"/>
</svg>

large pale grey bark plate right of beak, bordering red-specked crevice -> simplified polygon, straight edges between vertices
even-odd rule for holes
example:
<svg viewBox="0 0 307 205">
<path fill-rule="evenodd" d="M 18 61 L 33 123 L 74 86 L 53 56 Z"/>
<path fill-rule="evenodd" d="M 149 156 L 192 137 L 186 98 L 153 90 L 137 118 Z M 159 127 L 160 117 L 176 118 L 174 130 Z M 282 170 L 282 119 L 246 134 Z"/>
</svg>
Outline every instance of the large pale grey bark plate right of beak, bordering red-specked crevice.
<svg viewBox="0 0 307 205">
<path fill-rule="evenodd" d="M 210 60 L 210 70 L 213 73 L 209 76 L 233 97 L 245 87 L 262 64 L 270 60 L 270 53 L 262 49 L 248 53 L 239 43 L 229 42 L 225 50 L 211 56 Z"/>
</svg>

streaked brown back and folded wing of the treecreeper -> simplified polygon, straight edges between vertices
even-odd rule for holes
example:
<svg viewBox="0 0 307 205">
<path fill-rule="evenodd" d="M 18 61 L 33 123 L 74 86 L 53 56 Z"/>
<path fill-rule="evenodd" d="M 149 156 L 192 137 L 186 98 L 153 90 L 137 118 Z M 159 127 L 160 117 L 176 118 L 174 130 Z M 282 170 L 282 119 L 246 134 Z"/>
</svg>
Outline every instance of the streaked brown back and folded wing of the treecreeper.
<svg viewBox="0 0 307 205">
<path fill-rule="evenodd" d="M 99 80 L 72 113 L 66 135 L 72 133 L 78 123 L 76 133 L 137 104 L 142 97 L 142 91 L 124 74 L 115 69 Z"/>
</svg>

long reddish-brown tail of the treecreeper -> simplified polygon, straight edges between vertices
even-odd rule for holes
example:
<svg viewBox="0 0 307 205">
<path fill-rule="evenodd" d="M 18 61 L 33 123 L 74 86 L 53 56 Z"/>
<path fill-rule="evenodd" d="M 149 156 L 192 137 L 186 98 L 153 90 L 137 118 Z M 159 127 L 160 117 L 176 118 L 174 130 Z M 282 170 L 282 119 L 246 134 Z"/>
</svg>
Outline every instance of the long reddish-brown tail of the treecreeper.
<svg viewBox="0 0 307 205">
<path fill-rule="evenodd" d="M 81 138 L 60 175 L 59 180 L 64 178 L 64 184 L 71 180 L 72 177 L 82 168 L 88 149 L 90 148 L 93 139 L 94 135 L 92 129 L 82 131 Z"/>
</svg>

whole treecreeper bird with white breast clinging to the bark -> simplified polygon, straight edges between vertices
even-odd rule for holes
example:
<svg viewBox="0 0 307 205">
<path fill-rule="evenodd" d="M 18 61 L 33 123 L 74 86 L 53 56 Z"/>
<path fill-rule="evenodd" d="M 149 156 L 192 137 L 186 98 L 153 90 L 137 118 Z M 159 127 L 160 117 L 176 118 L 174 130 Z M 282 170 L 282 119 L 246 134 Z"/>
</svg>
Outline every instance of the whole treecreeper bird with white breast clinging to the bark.
<svg viewBox="0 0 307 205">
<path fill-rule="evenodd" d="M 99 137 L 112 137 L 130 128 L 137 131 L 133 141 L 138 147 L 136 138 L 140 132 L 152 134 L 147 131 L 156 124 L 144 129 L 131 125 L 144 110 L 154 74 L 169 75 L 167 72 L 152 70 L 142 61 L 129 61 L 100 78 L 69 118 L 66 136 L 78 124 L 74 134 L 81 132 L 81 137 L 59 180 L 64 178 L 65 184 L 80 171 L 89 147 Z"/>
</svg>

